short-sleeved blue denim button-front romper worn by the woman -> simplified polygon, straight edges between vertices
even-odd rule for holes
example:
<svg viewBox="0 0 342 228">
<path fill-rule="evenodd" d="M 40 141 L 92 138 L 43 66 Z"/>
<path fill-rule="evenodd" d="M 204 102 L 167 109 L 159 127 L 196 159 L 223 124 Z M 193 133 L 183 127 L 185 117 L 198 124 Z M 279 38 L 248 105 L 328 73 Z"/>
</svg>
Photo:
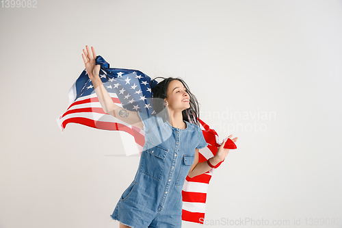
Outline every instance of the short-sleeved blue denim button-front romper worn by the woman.
<svg viewBox="0 0 342 228">
<path fill-rule="evenodd" d="M 173 127 L 163 118 L 137 112 L 145 144 L 137 173 L 122 193 L 111 218 L 135 228 L 181 227 L 182 189 L 194 164 L 195 149 L 207 147 L 198 125 Z"/>
</svg>

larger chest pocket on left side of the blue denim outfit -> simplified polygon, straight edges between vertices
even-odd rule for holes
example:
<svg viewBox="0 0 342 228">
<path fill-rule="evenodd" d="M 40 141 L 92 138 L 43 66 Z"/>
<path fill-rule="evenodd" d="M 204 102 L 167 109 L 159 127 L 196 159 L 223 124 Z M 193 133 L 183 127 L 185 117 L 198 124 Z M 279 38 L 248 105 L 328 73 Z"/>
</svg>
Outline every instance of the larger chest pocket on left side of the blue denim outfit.
<svg viewBox="0 0 342 228">
<path fill-rule="evenodd" d="M 140 157 L 140 173 L 160 180 L 167 154 L 168 149 L 154 144 L 153 142 L 146 141 Z"/>
</svg>

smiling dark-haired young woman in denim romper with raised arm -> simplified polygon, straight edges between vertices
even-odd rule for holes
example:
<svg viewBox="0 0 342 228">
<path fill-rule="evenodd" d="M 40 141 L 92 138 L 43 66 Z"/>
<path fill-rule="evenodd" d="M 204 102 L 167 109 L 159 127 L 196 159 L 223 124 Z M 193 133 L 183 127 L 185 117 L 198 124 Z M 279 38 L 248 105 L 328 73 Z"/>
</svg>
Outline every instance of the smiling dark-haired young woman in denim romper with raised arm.
<svg viewBox="0 0 342 228">
<path fill-rule="evenodd" d="M 198 149 L 207 147 L 198 126 L 198 102 L 180 78 L 169 77 L 153 89 L 153 108 L 149 115 L 125 110 L 114 104 L 102 84 L 92 47 L 83 49 L 82 58 L 104 112 L 140 127 L 145 144 L 135 178 L 124 190 L 111 218 L 123 227 L 181 227 L 182 189 L 185 177 L 211 169 L 198 162 Z M 190 119 L 189 119 L 190 118 Z M 232 135 L 231 135 L 232 136 Z M 231 138 L 228 136 L 228 138 Z M 233 139 L 236 142 L 237 138 Z M 224 142 L 209 162 L 215 166 L 228 155 Z"/>
</svg>

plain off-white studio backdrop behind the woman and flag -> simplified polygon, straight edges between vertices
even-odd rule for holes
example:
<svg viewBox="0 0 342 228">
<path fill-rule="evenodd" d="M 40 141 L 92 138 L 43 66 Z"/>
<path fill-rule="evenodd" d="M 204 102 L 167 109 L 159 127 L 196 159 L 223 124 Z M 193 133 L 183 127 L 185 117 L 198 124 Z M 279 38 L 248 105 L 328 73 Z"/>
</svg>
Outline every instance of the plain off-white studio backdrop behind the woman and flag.
<svg viewBox="0 0 342 228">
<path fill-rule="evenodd" d="M 182 77 L 220 140 L 239 137 L 205 225 L 183 227 L 342 227 L 342 1 L 1 4 L 1 228 L 118 227 L 140 157 L 118 132 L 55 121 L 86 45 L 111 67 Z"/>
</svg>

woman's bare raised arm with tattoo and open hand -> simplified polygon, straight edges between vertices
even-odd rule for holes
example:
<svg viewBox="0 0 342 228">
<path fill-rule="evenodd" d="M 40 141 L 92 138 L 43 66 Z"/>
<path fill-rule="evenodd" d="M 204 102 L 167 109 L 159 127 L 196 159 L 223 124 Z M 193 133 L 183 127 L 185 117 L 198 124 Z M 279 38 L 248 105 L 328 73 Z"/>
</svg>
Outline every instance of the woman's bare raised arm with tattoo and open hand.
<svg viewBox="0 0 342 228">
<path fill-rule="evenodd" d="M 98 101 L 101 103 L 103 111 L 107 114 L 110 114 L 111 116 L 120 119 L 121 121 L 124 121 L 125 123 L 128 123 L 129 125 L 134 125 L 136 127 L 139 127 L 140 129 L 144 129 L 142 120 L 137 115 L 137 112 L 126 110 L 113 102 L 100 79 L 99 73 L 101 66 L 96 65 L 96 53 L 94 47 L 92 47 L 92 51 L 90 51 L 90 48 L 88 46 L 86 46 L 86 49 L 87 51 L 83 49 L 83 62 L 86 66 L 88 76 L 90 80 L 92 80 L 92 85 L 94 86 L 96 96 L 98 97 Z"/>
</svg>

